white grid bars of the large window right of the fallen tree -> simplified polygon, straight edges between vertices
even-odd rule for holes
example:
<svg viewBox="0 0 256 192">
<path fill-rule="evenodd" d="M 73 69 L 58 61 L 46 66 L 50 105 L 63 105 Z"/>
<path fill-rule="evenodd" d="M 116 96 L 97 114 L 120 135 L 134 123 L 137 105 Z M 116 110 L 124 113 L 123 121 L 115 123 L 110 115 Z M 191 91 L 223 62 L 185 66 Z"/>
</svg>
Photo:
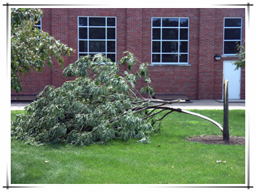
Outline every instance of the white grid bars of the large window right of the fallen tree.
<svg viewBox="0 0 256 192">
<path fill-rule="evenodd" d="M 153 26 L 153 19 L 161 19 L 160 23 L 161 26 Z M 163 26 L 163 19 L 179 19 L 178 23 L 179 26 L 174 27 L 167 27 Z M 188 23 L 187 26 L 181 26 L 181 19 L 187 19 Z M 152 64 L 188 64 L 189 61 L 189 18 L 188 17 L 153 17 L 151 20 L 152 30 L 151 30 L 151 62 Z M 161 29 L 160 39 L 153 40 L 153 29 Z M 177 40 L 163 40 L 163 29 L 178 29 L 178 38 Z M 180 39 L 180 30 L 181 29 L 187 29 L 187 40 L 181 40 Z M 160 41 L 160 52 L 153 52 L 153 42 L 159 42 Z M 163 42 L 177 42 L 178 51 L 177 52 L 163 52 Z M 180 52 L 180 43 L 181 42 L 187 42 L 187 52 Z M 153 54 L 160 54 L 160 62 L 153 62 Z M 178 62 L 162 62 L 163 54 L 177 54 L 178 55 Z M 180 55 L 181 54 L 187 54 L 187 62 L 180 62 Z"/>
</svg>

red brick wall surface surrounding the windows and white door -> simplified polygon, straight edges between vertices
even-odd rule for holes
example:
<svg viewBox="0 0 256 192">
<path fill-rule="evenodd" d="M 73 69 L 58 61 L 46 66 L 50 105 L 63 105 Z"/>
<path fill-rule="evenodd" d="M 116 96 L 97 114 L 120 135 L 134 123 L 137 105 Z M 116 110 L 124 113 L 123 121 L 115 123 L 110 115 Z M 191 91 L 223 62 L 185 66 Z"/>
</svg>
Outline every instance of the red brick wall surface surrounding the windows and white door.
<svg viewBox="0 0 256 192">
<path fill-rule="evenodd" d="M 43 9 L 42 30 L 60 42 L 77 50 L 65 57 L 65 66 L 78 58 L 77 17 L 116 17 L 117 60 L 126 50 L 135 54 L 140 62 L 151 64 L 151 18 L 189 17 L 189 65 L 151 65 L 148 70 L 156 94 L 187 95 L 190 99 L 222 99 L 222 58 L 224 17 L 243 17 L 245 39 L 245 9 Z M 122 70 L 125 67 L 122 66 Z M 134 70 L 138 70 L 134 68 Z M 46 85 L 60 87 L 65 81 L 59 64 L 33 72 L 22 78 L 24 91 L 12 95 L 37 95 Z M 138 82 L 138 89 L 143 82 Z M 241 99 L 245 99 L 245 69 L 241 73 Z"/>
</svg>

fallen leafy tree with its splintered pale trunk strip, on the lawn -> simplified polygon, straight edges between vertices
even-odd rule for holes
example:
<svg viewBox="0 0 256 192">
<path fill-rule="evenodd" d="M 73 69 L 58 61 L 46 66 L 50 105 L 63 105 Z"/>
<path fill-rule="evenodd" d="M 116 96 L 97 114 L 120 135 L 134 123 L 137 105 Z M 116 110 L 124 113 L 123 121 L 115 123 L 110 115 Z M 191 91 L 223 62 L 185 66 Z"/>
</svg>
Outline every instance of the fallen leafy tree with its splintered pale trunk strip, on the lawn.
<svg viewBox="0 0 256 192">
<path fill-rule="evenodd" d="M 97 54 L 93 58 L 81 57 L 67 66 L 63 75 L 77 79 L 58 88 L 46 86 L 38 99 L 26 107 L 27 113 L 15 117 L 12 138 L 30 144 L 89 145 L 128 138 L 147 143 L 149 134 L 159 129 L 161 121 L 173 111 L 202 117 L 222 130 L 220 124 L 208 117 L 167 105 L 182 102 L 181 99 L 152 99 L 154 89 L 148 64 L 140 63 L 139 70 L 132 74 L 138 60 L 130 52 L 125 54 L 118 64 Z M 125 64 L 128 71 L 121 73 L 118 66 Z M 137 91 L 135 85 L 140 78 L 146 87 Z M 145 94 L 147 98 L 142 97 Z M 165 115 L 157 117 L 162 111 L 166 111 Z"/>
</svg>

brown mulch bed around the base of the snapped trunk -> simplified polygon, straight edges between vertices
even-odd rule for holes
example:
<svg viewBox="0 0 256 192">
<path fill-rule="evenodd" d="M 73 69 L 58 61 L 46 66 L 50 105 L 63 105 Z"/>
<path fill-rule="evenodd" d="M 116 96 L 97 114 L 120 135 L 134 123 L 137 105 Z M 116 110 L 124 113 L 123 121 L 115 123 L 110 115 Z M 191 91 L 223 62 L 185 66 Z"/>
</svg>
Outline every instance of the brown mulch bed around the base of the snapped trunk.
<svg viewBox="0 0 256 192">
<path fill-rule="evenodd" d="M 230 136 L 229 141 L 223 140 L 223 136 L 199 136 L 194 138 L 186 138 L 185 140 L 188 140 L 191 142 L 202 142 L 204 144 L 245 145 L 244 137 L 234 137 L 234 136 Z"/>
</svg>

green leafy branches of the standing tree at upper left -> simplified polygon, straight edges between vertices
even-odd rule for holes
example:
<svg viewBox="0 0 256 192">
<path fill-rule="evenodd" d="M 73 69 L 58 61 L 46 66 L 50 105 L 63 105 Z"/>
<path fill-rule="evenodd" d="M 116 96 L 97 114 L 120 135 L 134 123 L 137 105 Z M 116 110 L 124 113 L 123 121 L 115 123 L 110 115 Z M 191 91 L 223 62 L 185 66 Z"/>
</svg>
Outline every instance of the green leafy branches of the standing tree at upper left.
<svg viewBox="0 0 256 192">
<path fill-rule="evenodd" d="M 46 64 L 52 66 L 52 56 L 64 66 L 64 56 L 74 51 L 34 28 L 40 17 L 40 9 L 11 9 L 11 89 L 17 92 L 22 91 L 19 75 L 42 72 Z"/>
</svg>

